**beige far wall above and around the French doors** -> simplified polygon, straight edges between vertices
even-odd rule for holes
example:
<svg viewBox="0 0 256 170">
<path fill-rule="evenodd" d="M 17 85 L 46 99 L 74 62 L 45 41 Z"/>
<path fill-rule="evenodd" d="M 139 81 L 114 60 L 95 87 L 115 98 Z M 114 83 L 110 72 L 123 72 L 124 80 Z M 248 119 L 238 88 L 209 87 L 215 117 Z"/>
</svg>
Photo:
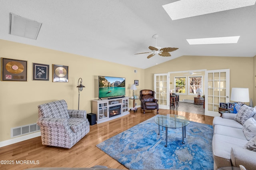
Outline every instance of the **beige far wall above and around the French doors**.
<svg viewBox="0 0 256 170">
<path fill-rule="evenodd" d="M 250 98 L 254 100 L 255 57 L 208 57 L 182 56 L 145 69 L 145 88 L 154 89 L 154 73 L 168 73 L 187 70 L 230 69 L 230 94 L 232 87 L 249 88 Z M 256 73 L 255 73 L 256 75 Z M 249 104 L 249 103 L 247 103 Z M 254 103 L 256 104 L 256 103 Z"/>
</svg>

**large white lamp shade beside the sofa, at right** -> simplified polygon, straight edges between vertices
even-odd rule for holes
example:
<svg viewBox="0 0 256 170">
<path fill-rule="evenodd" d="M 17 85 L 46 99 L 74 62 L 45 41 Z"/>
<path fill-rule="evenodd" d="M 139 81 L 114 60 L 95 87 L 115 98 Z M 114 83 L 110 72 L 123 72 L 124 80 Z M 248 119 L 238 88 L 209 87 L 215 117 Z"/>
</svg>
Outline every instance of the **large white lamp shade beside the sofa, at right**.
<svg viewBox="0 0 256 170">
<path fill-rule="evenodd" d="M 230 100 L 237 102 L 249 102 L 249 89 L 232 88 Z"/>
</svg>

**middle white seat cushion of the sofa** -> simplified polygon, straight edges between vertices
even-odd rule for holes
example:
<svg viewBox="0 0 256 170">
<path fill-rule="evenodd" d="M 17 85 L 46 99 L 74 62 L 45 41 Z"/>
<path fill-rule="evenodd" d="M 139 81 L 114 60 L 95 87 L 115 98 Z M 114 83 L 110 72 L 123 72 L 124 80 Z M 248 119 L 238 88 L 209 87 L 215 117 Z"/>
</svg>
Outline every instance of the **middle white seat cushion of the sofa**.
<svg viewBox="0 0 256 170">
<path fill-rule="evenodd" d="M 221 134 L 224 136 L 230 136 L 230 137 L 246 140 L 246 137 L 244 136 L 244 132 L 241 128 L 233 128 L 233 127 L 227 127 L 227 126 L 222 126 L 222 125 L 215 125 L 214 134 Z"/>
</svg>

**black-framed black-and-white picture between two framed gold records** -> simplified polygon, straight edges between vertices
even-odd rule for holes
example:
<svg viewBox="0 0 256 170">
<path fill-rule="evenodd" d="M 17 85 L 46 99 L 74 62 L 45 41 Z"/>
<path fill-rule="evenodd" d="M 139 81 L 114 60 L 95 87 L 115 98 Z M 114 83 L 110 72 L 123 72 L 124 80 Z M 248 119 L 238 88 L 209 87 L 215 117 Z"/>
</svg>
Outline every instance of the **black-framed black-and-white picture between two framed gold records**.
<svg viewBox="0 0 256 170">
<path fill-rule="evenodd" d="M 33 80 L 49 81 L 49 65 L 33 63 Z"/>
</svg>

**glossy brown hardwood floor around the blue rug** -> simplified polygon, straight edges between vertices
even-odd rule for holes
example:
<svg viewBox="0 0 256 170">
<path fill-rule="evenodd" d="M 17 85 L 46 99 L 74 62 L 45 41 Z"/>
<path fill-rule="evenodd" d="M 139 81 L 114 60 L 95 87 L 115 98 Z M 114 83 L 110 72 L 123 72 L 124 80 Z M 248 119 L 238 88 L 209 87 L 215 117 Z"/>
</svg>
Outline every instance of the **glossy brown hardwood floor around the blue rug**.
<svg viewBox="0 0 256 170">
<path fill-rule="evenodd" d="M 190 121 L 208 125 L 212 125 L 213 120 L 213 117 L 209 116 L 165 109 L 160 109 L 159 114 L 182 115 Z M 136 113 L 131 112 L 122 118 L 92 125 L 90 126 L 90 132 L 70 149 L 42 145 L 41 137 L 4 146 L 0 148 L 0 160 L 9 161 L 11 164 L 0 164 L 0 169 L 21 170 L 36 167 L 89 168 L 95 165 L 127 169 L 97 148 L 96 144 L 155 115 L 156 110 L 153 112 L 146 111 L 146 114 L 143 114 L 143 112 L 140 112 L 140 108 L 138 108 L 138 112 Z"/>
</svg>

